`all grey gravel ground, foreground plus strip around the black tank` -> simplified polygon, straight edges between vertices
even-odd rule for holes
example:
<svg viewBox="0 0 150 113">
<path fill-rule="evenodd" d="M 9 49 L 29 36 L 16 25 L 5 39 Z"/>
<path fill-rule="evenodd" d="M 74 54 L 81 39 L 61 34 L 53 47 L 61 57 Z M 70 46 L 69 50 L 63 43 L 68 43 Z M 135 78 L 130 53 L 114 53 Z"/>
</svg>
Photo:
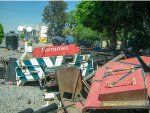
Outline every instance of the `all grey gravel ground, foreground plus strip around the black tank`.
<svg viewBox="0 0 150 113">
<path fill-rule="evenodd" d="M 19 45 L 24 48 L 23 42 L 19 42 Z M 45 45 L 43 43 L 34 43 L 33 48 Z M 18 53 L 17 50 L 6 49 L 5 40 L 0 44 L 0 58 L 5 60 L 10 57 L 19 59 L 23 51 Z M 39 86 L 4 85 L 1 82 L 2 79 L 0 79 L 0 113 L 18 113 L 29 107 L 36 111 L 46 104 L 43 101 L 44 90 L 40 90 Z"/>
</svg>

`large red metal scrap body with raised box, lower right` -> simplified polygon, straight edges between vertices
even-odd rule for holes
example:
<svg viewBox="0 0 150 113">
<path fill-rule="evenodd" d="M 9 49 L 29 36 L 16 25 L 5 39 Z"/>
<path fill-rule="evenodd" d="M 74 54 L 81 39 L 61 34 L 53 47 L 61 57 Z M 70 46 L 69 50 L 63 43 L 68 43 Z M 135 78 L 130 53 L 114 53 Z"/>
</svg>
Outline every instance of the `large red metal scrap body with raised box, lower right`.
<svg viewBox="0 0 150 113">
<path fill-rule="evenodd" d="M 93 109 L 149 109 L 150 57 L 108 62 L 93 78 L 82 112 Z"/>
</svg>

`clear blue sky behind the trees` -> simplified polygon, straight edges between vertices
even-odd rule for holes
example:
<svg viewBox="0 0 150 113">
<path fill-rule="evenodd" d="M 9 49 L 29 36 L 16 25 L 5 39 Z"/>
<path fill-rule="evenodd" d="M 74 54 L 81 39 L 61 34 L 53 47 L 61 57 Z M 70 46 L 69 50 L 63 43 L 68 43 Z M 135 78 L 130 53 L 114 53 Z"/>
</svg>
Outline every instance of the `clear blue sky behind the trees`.
<svg viewBox="0 0 150 113">
<path fill-rule="evenodd" d="M 67 1 L 68 10 L 75 9 L 78 1 Z M 18 26 L 36 26 L 42 23 L 42 13 L 48 1 L 0 1 L 0 23 L 4 32 L 17 32 Z"/>
</svg>

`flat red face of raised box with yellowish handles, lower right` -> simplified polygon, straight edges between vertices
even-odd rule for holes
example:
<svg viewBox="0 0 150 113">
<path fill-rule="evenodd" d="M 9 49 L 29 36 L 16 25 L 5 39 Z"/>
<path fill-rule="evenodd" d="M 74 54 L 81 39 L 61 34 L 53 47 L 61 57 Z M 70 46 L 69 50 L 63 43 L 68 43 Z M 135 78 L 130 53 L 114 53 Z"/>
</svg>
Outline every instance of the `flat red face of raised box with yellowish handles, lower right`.
<svg viewBox="0 0 150 113">
<path fill-rule="evenodd" d="M 125 74 L 128 74 L 129 71 L 124 73 L 117 73 L 114 75 L 112 74 L 106 79 L 103 79 L 100 95 L 144 89 L 144 79 L 142 77 L 141 71 L 141 69 L 137 69 L 135 72 L 122 79 L 122 81 L 118 81 L 118 79 L 124 76 Z M 135 84 L 132 84 L 132 82 L 134 82 L 133 79 L 135 80 Z M 118 83 L 112 85 L 112 87 L 107 87 L 108 82 L 113 83 L 117 81 Z"/>
</svg>

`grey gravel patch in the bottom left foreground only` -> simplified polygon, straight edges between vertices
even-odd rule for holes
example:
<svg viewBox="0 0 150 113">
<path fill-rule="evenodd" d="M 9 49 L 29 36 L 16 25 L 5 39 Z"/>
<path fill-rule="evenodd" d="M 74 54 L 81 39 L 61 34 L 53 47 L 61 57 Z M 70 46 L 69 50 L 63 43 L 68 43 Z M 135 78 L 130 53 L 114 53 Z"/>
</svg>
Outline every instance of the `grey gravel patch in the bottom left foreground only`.
<svg viewBox="0 0 150 113">
<path fill-rule="evenodd" d="M 0 113 L 18 113 L 26 108 L 42 108 L 44 90 L 38 86 L 0 85 Z"/>
</svg>

